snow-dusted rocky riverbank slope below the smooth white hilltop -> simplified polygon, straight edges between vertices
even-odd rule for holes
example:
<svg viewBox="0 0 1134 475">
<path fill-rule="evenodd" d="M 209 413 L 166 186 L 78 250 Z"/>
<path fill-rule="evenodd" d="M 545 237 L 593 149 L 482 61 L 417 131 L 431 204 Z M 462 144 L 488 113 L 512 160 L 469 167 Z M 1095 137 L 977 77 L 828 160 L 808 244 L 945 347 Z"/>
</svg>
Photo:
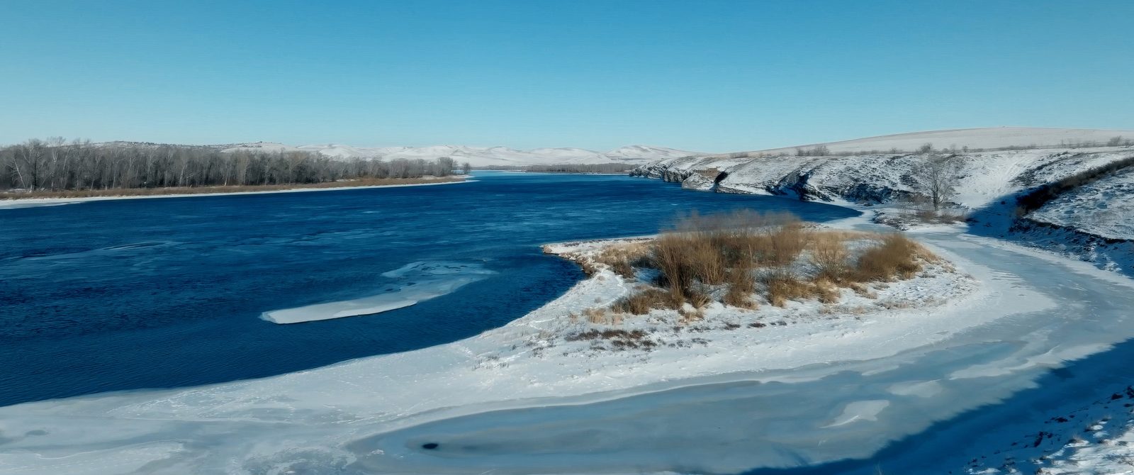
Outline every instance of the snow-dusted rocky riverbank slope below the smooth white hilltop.
<svg viewBox="0 0 1134 475">
<path fill-rule="evenodd" d="M 635 169 L 632 175 L 699 184 L 704 184 L 701 178 L 709 176 L 713 180 L 693 188 L 878 204 L 923 193 L 925 186 L 913 170 L 929 155 L 692 156 L 658 161 Z M 956 156 L 962 178 L 955 201 L 970 210 L 980 209 L 1021 190 L 1131 155 L 1134 147 L 959 153 Z"/>
</svg>

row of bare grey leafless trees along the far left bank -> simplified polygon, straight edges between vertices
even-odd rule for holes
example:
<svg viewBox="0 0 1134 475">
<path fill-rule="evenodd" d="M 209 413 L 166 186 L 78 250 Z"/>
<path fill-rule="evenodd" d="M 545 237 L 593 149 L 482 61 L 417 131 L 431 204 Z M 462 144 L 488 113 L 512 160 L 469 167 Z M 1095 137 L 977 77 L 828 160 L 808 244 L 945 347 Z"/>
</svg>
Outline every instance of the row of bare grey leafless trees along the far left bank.
<svg viewBox="0 0 1134 475">
<path fill-rule="evenodd" d="M 118 146 L 31 139 L 0 149 L 0 189 L 105 189 L 312 184 L 354 178 L 448 176 L 454 161 L 340 161 L 310 152 L 221 152 L 194 146 Z"/>
</svg>

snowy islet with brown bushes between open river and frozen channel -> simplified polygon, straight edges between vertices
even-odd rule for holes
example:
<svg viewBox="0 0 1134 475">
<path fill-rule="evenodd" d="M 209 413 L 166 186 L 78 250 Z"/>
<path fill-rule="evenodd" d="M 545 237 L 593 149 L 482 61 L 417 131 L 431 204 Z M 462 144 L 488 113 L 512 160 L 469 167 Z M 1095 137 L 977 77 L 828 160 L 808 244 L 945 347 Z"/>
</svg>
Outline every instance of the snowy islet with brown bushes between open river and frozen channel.
<svg viewBox="0 0 1134 475">
<path fill-rule="evenodd" d="M 541 322 L 540 343 L 530 347 L 593 354 L 703 346 L 742 354 L 832 321 L 886 321 L 902 309 L 956 304 L 978 286 L 900 235 L 768 224 L 781 217 L 759 214 L 714 218 L 658 237 L 544 246 L 587 272 L 593 282 L 578 289 L 601 291 L 579 296 L 593 305 Z M 671 351 L 665 358 L 680 357 L 682 349 Z"/>
</svg>

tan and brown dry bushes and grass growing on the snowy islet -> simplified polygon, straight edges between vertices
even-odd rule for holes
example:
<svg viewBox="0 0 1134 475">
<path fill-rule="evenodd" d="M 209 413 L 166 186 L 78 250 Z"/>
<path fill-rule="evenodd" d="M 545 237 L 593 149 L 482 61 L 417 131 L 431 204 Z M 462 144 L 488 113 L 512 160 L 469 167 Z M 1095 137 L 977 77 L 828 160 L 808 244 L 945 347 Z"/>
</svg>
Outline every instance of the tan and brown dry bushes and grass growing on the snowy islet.
<svg viewBox="0 0 1134 475">
<path fill-rule="evenodd" d="M 843 288 L 875 298 L 868 283 L 913 278 L 937 257 L 897 234 L 814 230 L 792 215 L 745 211 L 691 214 L 652 243 L 612 247 L 595 261 L 626 277 L 634 275 L 635 268 L 659 271 L 660 288 L 615 302 L 609 308 L 615 315 L 672 308 L 683 321 L 693 321 L 704 315 L 712 296 L 741 308 L 756 308 L 761 292 L 779 307 L 805 299 L 837 304 Z M 606 314 L 586 315 L 592 322 L 610 320 Z"/>
</svg>

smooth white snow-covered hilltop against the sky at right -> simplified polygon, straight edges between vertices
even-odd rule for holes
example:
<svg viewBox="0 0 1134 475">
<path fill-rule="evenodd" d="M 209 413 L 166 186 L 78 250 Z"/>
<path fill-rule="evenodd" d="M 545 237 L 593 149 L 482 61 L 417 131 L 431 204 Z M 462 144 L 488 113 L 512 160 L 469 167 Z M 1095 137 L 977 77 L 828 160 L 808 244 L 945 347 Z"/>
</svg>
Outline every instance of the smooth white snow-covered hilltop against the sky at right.
<svg viewBox="0 0 1134 475">
<path fill-rule="evenodd" d="M 1100 130 L 1080 128 L 1042 127 L 990 127 L 962 128 L 951 130 L 915 132 L 908 134 L 881 135 L 853 141 L 827 142 L 782 149 L 759 150 L 751 153 L 792 154 L 796 149 L 826 146 L 831 153 L 913 152 L 924 144 L 936 149 L 1006 149 L 1006 147 L 1055 147 L 1107 145 L 1120 137 L 1118 144 L 1134 141 L 1134 130 Z"/>
</svg>

